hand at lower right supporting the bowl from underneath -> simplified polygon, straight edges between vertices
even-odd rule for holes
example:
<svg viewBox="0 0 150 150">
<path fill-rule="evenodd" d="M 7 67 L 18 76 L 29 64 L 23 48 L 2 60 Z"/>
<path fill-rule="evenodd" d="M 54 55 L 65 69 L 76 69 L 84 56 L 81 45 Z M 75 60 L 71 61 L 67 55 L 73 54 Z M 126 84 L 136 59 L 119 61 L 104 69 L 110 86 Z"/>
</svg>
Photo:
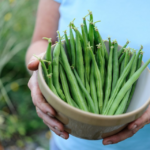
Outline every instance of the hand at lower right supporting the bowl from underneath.
<svg viewBox="0 0 150 150">
<path fill-rule="evenodd" d="M 119 133 L 103 139 L 103 144 L 115 144 L 132 137 L 138 130 L 150 123 L 150 105 L 145 113 L 137 120 L 131 122 L 125 129 Z"/>
</svg>

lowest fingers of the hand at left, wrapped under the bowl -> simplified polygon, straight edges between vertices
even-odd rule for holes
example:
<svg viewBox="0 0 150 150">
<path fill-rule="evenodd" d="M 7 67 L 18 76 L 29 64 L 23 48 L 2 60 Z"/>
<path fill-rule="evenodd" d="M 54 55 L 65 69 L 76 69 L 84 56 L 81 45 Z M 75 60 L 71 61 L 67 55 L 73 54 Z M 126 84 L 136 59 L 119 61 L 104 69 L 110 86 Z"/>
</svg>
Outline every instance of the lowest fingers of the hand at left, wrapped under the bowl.
<svg viewBox="0 0 150 150">
<path fill-rule="evenodd" d="M 57 135 L 61 136 L 64 139 L 69 138 L 69 134 L 64 131 L 63 124 L 58 121 L 56 118 L 49 117 L 45 113 L 43 113 L 40 109 L 36 107 L 37 114 L 40 118 L 43 119 L 43 122 Z"/>
</svg>

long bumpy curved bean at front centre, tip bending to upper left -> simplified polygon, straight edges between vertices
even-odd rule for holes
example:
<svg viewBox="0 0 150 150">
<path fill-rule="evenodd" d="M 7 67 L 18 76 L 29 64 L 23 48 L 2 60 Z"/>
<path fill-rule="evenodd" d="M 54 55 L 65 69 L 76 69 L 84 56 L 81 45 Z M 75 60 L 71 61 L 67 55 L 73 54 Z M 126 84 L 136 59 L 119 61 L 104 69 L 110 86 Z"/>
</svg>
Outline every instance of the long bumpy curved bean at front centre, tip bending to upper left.
<svg viewBox="0 0 150 150">
<path fill-rule="evenodd" d="M 98 106 L 99 106 L 99 112 L 102 113 L 103 109 L 103 89 L 102 89 L 102 80 L 101 80 L 101 74 L 98 69 L 95 56 L 93 54 L 93 51 L 91 47 L 88 47 L 90 53 L 91 53 L 91 58 L 92 62 L 94 63 L 94 76 L 95 76 L 95 83 L 96 83 L 96 93 L 97 93 L 97 99 L 98 99 Z"/>
</svg>

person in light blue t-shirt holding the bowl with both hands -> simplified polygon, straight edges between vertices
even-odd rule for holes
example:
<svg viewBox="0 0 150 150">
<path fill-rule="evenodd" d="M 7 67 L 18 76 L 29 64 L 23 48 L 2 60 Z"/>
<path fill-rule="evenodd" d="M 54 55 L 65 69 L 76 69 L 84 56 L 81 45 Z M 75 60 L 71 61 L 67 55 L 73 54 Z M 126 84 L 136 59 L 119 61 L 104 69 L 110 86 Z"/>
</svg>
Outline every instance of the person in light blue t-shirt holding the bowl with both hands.
<svg viewBox="0 0 150 150">
<path fill-rule="evenodd" d="M 57 40 L 57 30 L 62 35 L 73 18 L 76 18 L 74 23 L 79 27 L 82 23 L 82 17 L 90 9 L 93 12 L 94 21 L 101 20 L 101 23 L 97 23 L 97 27 L 103 39 L 107 39 L 109 35 L 111 39 L 117 39 L 119 45 L 124 45 L 129 39 L 130 47 L 134 49 L 139 49 L 140 44 L 142 44 L 144 47 L 143 59 L 146 61 L 150 56 L 149 6 L 149 1 L 140 0 L 39 1 L 35 30 L 26 54 L 26 64 L 32 72 L 28 86 L 37 114 L 52 131 L 51 150 L 74 150 L 78 148 L 82 150 L 149 150 L 150 106 L 140 118 L 129 123 L 121 132 L 103 140 L 79 139 L 64 131 L 63 124 L 55 118 L 55 110 L 46 102 L 39 89 L 37 83 L 39 61 L 33 57 L 33 54 L 42 57 L 47 49 L 47 41 L 42 40 L 42 37 L 51 37 L 54 43 Z"/>
</svg>

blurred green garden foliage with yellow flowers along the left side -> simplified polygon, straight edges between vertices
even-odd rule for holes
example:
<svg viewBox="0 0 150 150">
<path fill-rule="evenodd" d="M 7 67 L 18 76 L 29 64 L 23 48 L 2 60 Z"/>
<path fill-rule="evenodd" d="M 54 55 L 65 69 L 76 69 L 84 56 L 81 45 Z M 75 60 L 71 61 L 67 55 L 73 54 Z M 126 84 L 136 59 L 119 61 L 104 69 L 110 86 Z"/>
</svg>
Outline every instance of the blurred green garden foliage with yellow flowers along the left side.
<svg viewBox="0 0 150 150">
<path fill-rule="evenodd" d="M 0 150 L 48 149 L 50 132 L 32 104 L 25 67 L 37 5 L 0 0 Z"/>
</svg>

